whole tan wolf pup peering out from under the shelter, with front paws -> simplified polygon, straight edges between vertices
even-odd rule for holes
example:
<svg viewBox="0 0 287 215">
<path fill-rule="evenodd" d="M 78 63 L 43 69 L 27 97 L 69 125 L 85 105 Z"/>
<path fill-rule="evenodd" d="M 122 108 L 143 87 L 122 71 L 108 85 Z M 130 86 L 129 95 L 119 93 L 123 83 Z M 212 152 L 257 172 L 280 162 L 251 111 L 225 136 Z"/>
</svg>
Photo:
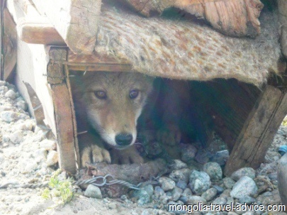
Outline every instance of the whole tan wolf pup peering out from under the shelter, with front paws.
<svg viewBox="0 0 287 215">
<path fill-rule="evenodd" d="M 81 165 L 140 163 L 137 118 L 152 92 L 152 77 L 137 72 L 86 72 L 71 77 Z M 87 131 L 87 132 L 86 132 Z"/>
</svg>

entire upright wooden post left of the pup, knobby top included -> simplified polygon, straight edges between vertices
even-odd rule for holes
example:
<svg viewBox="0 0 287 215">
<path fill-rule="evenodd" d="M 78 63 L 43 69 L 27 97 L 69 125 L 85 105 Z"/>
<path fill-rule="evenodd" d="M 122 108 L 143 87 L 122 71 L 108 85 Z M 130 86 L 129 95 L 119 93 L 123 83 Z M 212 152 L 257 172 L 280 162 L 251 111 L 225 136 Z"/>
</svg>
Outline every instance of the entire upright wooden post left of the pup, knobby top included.
<svg viewBox="0 0 287 215">
<path fill-rule="evenodd" d="M 67 172 L 77 172 L 74 111 L 72 100 L 65 82 L 64 65 L 67 60 L 67 50 L 63 48 L 50 49 L 50 62 L 47 67 L 47 80 L 51 84 L 52 101 L 55 108 L 55 123 L 60 167 Z"/>
</svg>

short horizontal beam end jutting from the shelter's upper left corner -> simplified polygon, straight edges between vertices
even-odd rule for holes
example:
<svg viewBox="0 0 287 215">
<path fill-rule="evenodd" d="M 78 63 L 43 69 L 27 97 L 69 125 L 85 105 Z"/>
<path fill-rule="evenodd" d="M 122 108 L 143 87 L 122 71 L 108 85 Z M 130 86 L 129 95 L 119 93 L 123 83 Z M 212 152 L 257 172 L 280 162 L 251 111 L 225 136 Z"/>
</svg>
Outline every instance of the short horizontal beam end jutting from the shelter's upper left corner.
<svg viewBox="0 0 287 215">
<path fill-rule="evenodd" d="M 19 38 L 26 43 L 65 45 L 61 35 L 45 18 L 22 18 L 17 24 Z"/>
</svg>

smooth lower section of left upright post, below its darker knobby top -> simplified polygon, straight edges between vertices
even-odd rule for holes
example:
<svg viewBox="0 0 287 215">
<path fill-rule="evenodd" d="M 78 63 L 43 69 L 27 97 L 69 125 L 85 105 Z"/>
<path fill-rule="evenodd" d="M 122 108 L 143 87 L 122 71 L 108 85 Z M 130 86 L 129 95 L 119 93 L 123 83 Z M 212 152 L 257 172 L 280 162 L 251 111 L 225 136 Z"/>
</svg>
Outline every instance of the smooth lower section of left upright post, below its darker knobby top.
<svg viewBox="0 0 287 215">
<path fill-rule="evenodd" d="M 51 85 L 52 100 L 55 107 L 57 145 L 61 169 L 75 174 L 77 172 L 74 146 L 74 125 L 69 89 L 65 83 Z"/>
</svg>

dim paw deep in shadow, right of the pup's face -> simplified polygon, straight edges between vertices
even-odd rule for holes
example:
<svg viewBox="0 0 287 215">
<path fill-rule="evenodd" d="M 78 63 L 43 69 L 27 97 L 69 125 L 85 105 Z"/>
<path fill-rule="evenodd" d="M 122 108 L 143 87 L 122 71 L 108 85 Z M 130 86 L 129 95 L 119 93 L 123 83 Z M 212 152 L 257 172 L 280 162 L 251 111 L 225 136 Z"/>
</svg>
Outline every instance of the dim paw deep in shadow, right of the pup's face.
<svg viewBox="0 0 287 215">
<path fill-rule="evenodd" d="M 157 141 L 163 145 L 177 145 L 181 141 L 181 131 L 179 126 L 168 125 L 157 131 Z"/>
</svg>

